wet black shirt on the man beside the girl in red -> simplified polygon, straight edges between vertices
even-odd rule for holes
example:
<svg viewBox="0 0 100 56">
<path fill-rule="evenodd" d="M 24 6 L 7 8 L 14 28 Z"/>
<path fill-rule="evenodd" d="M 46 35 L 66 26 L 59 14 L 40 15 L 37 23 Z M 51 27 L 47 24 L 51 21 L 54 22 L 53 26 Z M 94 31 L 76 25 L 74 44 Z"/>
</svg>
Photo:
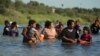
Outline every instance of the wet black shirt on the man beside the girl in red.
<svg viewBox="0 0 100 56">
<path fill-rule="evenodd" d="M 79 35 L 78 35 L 76 29 L 72 29 L 72 31 L 70 32 L 69 28 L 66 27 L 66 28 L 63 29 L 60 37 L 62 39 L 62 42 L 71 43 L 70 41 L 67 41 L 65 38 L 69 38 L 69 39 L 75 40 L 75 39 L 79 38 Z"/>
</svg>

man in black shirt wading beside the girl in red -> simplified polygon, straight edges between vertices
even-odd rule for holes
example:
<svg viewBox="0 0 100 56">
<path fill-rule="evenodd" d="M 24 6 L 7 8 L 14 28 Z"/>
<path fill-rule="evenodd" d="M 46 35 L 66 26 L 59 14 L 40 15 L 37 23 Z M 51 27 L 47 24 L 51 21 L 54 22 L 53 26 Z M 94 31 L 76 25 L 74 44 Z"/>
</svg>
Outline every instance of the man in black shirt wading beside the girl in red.
<svg viewBox="0 0 100 56">
<path fill-rule="evenodd" d="M 62 43 L 74 44 L 78 42 L 79 35 L 74 27 L 75 22 L 73 20 L 68 20 L 67 27 L 65 27 L 61 32 Z"/>
</svg>

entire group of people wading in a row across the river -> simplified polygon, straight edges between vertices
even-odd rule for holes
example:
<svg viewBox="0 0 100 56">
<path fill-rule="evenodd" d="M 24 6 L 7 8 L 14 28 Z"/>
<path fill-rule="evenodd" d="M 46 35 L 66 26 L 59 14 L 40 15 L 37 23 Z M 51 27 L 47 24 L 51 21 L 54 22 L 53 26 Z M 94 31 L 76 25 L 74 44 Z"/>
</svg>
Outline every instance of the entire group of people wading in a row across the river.
<svg viewBox="0 0 100 56">
<path fill-rule="evenodd" d="M 23 31 L 23 43 L 37 44 L 37 40 L 43 42 L 44 40 L 53 41 L 59 39 L 63 44 L 75 44 L 82 45 L 90 44 L 92 42 L 92 33 L 98 34 L 100 30 L 100 19 L 97 18 L 93 24 L 80 28 L 80 24 L 75 20 L 68 20 L 67 27 L 64 27 L 62 22 L 57 21 L 54 26 L 53 22 L 45 21 L 44 28 L 35 20 L 29 20 L 28 26 Z M 80 35 L 80 33 L 82 34 Z M 13 22 L 9 24 L 9 21 L 5 21 L 5 27 L 3 35 L 18 36 L 17 23 Z"/>
</svg>

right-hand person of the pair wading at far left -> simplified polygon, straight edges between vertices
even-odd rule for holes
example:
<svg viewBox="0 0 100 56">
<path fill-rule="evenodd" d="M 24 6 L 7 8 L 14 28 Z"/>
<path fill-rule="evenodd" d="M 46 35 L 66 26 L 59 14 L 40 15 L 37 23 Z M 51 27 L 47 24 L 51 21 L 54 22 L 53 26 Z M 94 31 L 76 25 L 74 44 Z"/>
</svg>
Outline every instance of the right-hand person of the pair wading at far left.
<svg viewBox="0 0 100 56">
<path fill-rule="evenodd" d="M 12 22 L 10 27 L 10 36 L 18 37 L 18 27 L 16 22 Z"/>
</svg>

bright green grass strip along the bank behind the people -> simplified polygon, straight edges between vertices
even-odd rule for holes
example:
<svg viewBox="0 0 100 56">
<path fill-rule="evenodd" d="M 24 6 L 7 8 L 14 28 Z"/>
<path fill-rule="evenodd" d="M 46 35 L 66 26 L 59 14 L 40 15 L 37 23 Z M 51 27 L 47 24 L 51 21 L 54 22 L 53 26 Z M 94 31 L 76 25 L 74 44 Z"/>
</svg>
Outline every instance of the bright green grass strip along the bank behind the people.
<svg viewBox="0 0 100 56">
<path fill-rule="evenodd" d="M 81 24 L 88 24 L 88 22 L 86 20 L 83 20 L 81 18 L 71 18 L 71 17 L 67 17 L 67 16 L 61 16 L 58 14 L 32 15 L 32 14 L 21 14 L 21 13 L 19 13 L 19 16 L 17 16 L 17 17 L 0 15 L 0 24 L 4 24 L 5 20 L 16 21 L 18 24 L 27 24 L 27 22 L 29 20 L 27 17 L 30 17 L 31 19 L 36 20 L 38 23 L 44 22 L 46 20 L 50 20 L 55 23 L 57 20 L 60 20 L 63 24 L 66 24 L 66 21 L 68 19 L 74 19 L 74 20 L 79 20 Z"/>
</svg>

